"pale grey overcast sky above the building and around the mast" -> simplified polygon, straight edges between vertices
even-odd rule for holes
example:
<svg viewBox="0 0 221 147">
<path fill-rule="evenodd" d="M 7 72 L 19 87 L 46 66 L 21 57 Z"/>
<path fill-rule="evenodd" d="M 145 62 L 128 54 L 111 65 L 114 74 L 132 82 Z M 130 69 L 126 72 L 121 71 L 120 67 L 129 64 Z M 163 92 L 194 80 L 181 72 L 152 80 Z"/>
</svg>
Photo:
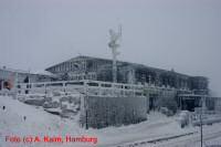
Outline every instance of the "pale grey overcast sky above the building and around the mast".
<svg viewBox="0 0 221 147">
<path fill-rule="evenodd" d="M 0 0 L 0 66 L 43 70 L 78 54 L 203 75 L 221 96 L 221 0 Z"/>
</svg>

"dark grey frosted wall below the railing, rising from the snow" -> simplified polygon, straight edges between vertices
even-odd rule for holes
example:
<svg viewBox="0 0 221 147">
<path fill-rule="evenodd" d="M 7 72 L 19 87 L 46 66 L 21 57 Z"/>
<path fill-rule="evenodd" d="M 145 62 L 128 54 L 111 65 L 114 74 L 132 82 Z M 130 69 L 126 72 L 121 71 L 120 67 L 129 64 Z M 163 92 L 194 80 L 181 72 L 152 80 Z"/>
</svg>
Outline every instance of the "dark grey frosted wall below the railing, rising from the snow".
<svg viewBox="0 0 221 147">
<path fill-rule="evenodd" d="M 102 128 L 139 123 L 147 119 L 147 97 L 101 97 L 86 98 L 83 125 Z M 84 119 L 84 120 L 83 120 Z M 87 119 L 87 120 L 86 120 Z"/>
</svg>

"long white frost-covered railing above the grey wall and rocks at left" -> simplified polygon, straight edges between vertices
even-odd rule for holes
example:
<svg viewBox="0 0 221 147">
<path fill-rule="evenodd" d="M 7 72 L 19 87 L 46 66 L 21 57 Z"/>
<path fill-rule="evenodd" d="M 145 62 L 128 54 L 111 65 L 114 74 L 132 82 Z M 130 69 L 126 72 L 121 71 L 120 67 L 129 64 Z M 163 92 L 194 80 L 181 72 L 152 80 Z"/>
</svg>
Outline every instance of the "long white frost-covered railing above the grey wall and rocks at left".
<svg viewBox="0 0 221 147">
<path fill-rule="evenodd" d="M 60 81 L 40 83 L 20 83 L 15 85 L 18 94 L 50 93 L 53 91 L 80 92 L 90 96 L 144 96 L 144 86 L 101 81 Z"/>
</svg>

